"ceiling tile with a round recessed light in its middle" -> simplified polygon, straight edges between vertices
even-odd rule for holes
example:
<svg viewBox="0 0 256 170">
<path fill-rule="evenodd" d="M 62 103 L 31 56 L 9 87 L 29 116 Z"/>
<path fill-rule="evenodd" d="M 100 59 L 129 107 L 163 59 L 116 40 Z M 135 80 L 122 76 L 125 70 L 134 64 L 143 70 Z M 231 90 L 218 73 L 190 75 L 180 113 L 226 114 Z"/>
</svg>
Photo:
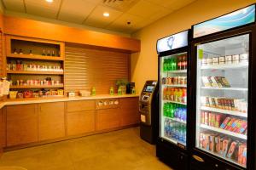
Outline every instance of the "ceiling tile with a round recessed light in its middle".
<svg viewBox="0 0 256 170">
<path fill-rule="evenodd" d="M 110 14 L 109 17 L 104 17 L 104 12 L 108 12 Z M 98 5 L 89 15 L 87 20 L 85 20 L 84 24 L 103 28 L 108 26 L 113 20 L 116 20 L 121 14 L 123 13 L 113 8 Z"/>
</svg>

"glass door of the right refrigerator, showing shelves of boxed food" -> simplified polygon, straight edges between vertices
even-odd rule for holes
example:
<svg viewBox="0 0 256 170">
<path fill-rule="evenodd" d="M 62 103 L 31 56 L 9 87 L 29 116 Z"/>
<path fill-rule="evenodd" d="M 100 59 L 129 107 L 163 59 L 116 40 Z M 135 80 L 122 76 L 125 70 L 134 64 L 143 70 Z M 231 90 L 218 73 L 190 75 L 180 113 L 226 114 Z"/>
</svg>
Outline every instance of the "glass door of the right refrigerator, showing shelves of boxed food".
<svg viewBox="0 0 256 170">
<path fill-rule="evenodd" d="M 196 147 L 247 164 L 249 34 L 197 46 Z"/>
</svg>

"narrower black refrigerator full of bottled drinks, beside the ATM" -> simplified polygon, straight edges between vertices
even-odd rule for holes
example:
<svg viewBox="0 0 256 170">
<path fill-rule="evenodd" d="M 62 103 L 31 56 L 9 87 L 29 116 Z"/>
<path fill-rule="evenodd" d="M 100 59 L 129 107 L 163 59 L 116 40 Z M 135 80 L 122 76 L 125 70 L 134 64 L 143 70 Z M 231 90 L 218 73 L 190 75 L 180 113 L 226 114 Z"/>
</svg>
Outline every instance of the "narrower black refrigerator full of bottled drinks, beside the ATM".
<svg viewBox="0 0 256 170">
<path fill-rule="evenodd" d="M 188 168 L 187 85 L 189 30 L 157 41 L 160 116 L 156 155 L 175 169 Z"/>
</svg>

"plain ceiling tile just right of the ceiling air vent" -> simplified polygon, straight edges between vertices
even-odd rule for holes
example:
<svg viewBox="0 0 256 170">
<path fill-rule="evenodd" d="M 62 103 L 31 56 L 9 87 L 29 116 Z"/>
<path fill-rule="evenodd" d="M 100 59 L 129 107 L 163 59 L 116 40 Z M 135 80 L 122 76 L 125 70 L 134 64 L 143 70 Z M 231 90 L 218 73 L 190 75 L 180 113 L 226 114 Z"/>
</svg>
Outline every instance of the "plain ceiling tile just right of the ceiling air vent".
<svg viewBox="0 0 256 170">
<path fill-rule="evenodd" d="M 148 1 L 141 0 L 138 3 L 136 3 L 133 7 L 131 7 L 127 13 L 129 14 L 135 14 L 137 16 L 141 16 L 144 18 L 151 17 L 156 12 L 160 11 L 162 7 L 159 5 L 156 5 L 154 3 L 149 3 Z"/>
</svg>

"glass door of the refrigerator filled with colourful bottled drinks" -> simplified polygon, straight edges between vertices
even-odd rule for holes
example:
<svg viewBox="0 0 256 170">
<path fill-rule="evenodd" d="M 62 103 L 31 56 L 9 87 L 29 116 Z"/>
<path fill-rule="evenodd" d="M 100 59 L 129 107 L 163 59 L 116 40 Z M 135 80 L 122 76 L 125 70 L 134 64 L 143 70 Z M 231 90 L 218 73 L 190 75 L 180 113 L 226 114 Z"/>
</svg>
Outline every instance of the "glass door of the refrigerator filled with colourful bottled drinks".
<svg viewBox="0 0 256 170">
<path fill-rule="evenodd" d="M 185 148 L 187 53 L 160 58 L 160 138 Z"/>
</svg>

